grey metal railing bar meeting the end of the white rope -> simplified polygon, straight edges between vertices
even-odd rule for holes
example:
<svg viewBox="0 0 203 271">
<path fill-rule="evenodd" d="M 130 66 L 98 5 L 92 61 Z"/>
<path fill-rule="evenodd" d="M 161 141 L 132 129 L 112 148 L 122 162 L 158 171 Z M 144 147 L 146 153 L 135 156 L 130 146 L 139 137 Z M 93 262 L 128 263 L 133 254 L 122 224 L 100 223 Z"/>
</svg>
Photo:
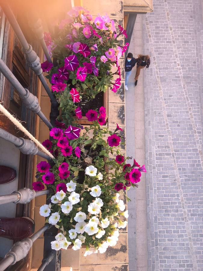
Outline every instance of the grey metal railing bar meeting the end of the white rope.
<svg viewBox="0 0 203 271">
<path fill-rule="evenodd" d="M 45 158 L 48 161 L 51 161 L 51 157 L 49 157 L 47 154 L 40 151 L 35 145 L 35 143 L 29 139 L 24 139 L 22 137 L 14 136 L 2 128 L 0 128 L 0 138 L 13 143 L 16 146 L 16 148 L 18 148 L 24 154 L 32 154 L 32 155 L 37 154 L 41 156 L 42 158 Z"/>
</svg>

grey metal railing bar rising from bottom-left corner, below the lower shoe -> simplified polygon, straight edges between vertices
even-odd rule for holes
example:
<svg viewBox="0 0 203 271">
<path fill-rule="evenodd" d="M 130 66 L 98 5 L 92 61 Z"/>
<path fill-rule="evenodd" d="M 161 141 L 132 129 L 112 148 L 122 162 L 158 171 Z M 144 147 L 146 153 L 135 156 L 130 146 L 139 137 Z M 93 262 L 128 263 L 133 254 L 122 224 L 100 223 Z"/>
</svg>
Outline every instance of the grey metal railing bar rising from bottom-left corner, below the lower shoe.
<svg viewBox="0 0 203 271">
<path fill-rule="evenodd" d="M 5 258 L 0 262 L 0 271 L 5 270 L 9 265 L 13 265 L 25 258 L 34 241 L 49 228 L 50 224 L 45 224 L 45 226 L 35 232 L 31 237 L 16 242 L 5 255 Z"/>
</svg>

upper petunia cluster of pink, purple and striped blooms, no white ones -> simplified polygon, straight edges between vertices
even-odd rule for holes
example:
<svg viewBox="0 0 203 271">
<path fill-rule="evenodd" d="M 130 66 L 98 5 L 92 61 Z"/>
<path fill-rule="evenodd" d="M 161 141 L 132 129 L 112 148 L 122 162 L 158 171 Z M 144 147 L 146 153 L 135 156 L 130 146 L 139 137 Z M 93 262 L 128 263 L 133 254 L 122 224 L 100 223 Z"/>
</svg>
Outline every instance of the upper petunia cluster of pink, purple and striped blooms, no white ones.
<svg viewBox="0 0 203 271">
<path fill-rule="evenodd" d="M 60 117 L 66 124 L 72 121 L 70 116 L 77 107 L 85 114 L 89 109 L 84 108 L 85 104 L 98 93 L 106 92 L 108 87 L 116 92 L 120 87 L 118 59 L 129 44 L 119 45 L 117 38 L 127 37 L 127 34 L 122 26 L 118 28 L 116 31 L 114 20 L 107 15 L 93 20 L 89 11 L 75 7 L 68 12 L 68 18 L 55 27 L 53 37 L 45 33 L 55 67 L 45 61 L 42 70 L 48 73 L 46 77 L 62 109 Z M 117 67 L 114 73 L 113 66 Z M 118 77 L 115 79 L 114 75 Z"/>
</svg>

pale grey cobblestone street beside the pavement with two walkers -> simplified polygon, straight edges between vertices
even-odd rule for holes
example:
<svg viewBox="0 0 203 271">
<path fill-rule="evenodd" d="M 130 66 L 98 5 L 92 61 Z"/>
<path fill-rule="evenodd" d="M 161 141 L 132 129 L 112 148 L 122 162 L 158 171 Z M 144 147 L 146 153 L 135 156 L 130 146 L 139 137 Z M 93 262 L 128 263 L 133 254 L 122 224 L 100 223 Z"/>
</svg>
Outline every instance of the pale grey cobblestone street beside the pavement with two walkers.
<svg viewBox="0 0 203 271">
<path fill-rule="evenodd" d="M 147 235 L 147 270 L 202 271 L 202 5 L 200 0 L 154 0 L 153 6 L 152 13 L 142 15 L 143 51 L 134 47 L 133 52 L 151 58 L 137 85 L 144 91 L 146 210 L 137 207 L 136 194 L 129 204 L 128 227 L 130 232 L 131 223 L 137 223 L 138 210 L 146 211 L 147 229 L 141 237 Z M 129 82 L 136 94 L 134 72 Z M 126 119 L 129 98 L 126 93 Z M 135 149 L 137 136 L 135 132 Z M 135 235 L 135 240 L 140 238 L 139 231 Z M 128 242 L 129 270 L 146 270 L 138 262 L 142 253 L 137 242 L 134 267 L 131 264 L 133 245 L 130 238 Z"/>
</svg>

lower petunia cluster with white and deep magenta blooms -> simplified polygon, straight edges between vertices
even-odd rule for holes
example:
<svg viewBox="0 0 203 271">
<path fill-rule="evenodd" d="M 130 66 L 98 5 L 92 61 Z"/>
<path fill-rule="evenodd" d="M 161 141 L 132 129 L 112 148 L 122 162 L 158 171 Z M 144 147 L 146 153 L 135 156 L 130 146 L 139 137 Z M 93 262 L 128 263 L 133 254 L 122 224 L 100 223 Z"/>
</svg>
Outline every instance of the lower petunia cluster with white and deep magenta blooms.
<svg viewBox="0 0 203 271">
<path fill-rule="evenodd" d="M 126 164 L 129 157 L 118 149 L 125 144 L 118 124 L 112 132 L 98 119 L 85 128 L 70 125 L 66 129 L 60 123 L 61 128 L 50 131 L 52 140 L 43 142 L 55 158 L 37 165 L 33 188 L 42 190 L 46 185 L 54 191 L 48 204 L 40 207 L 46 222 L 59 229 L 52 249 L 78 250 L 84 245 L 85 256 L 103 253 L 116 245 L 119 229 L 127 226 L 128 210 L 120 194 L 125 196 L 125 190 L 137 186 L 146 170 L 135 160 L 132 166 Z"/>
</svg>

